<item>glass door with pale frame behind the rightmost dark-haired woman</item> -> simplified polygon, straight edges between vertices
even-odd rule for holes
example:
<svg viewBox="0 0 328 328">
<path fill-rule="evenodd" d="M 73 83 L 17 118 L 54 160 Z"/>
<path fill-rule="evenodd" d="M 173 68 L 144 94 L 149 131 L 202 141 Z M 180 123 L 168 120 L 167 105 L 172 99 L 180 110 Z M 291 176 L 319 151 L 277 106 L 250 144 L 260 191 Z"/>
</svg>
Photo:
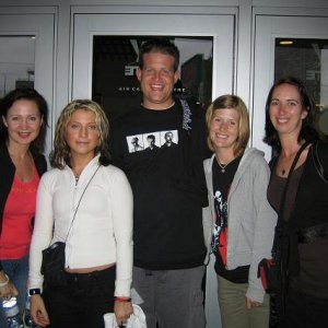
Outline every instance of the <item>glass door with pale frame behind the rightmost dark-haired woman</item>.
<svg viewBox="0 0 328 328">
<path fill-rule="evenodd" d="M 328 16 L 256 16 L 253 145 L 271 157 L 262 142 L 265 104 L 273 81 L 295 75 L 305 81 L 316 104 L 317 129 L 328 133 Z"/>
</svg>

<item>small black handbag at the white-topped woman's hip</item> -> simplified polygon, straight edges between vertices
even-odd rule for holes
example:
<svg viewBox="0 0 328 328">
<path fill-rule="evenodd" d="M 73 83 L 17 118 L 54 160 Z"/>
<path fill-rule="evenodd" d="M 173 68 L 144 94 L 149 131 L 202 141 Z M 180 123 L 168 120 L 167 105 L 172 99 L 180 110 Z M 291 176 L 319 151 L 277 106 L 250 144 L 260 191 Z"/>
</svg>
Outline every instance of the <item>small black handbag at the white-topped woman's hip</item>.
<svg viewBox="0 0 328 328">
<path fill-rule="evenodd" d="M 50 288 L 67 285 L 65 272 L 65 246 L 63 242 L 56 242 L 43 250 L 43 263 L 40 272 L 44 274 L 45 284 Z"/>
</svg>

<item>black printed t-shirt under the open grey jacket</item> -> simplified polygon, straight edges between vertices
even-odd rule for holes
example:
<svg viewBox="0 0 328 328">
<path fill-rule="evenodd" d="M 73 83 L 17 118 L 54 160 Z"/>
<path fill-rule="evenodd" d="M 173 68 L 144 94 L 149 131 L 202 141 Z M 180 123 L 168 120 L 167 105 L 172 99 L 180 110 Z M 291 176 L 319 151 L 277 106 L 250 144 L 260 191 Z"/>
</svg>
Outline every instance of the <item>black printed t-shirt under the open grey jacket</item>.
<svg viewBox="0 0 328 328">
<path fill-rule="evenodd" d="M 213 172 L 213 192 L 214 192 L 214 204 L 215 204 L 215 233 L 212 239 L 213 253 L 215 255 L 214 270 L 215 272 L 223 277 L 224 279 L 235 282 L 235 283 L 246 283 L 248 281 L 249 266 L 237 267 L 234 270 L 227 270 L 220 248 L 224 247 L 224 243 L 220 243 L 227 234 L 229 229 L 229 213 L 227 213 L 227 196 L 230 192 L 231 184 L 234 179 L 235 173 L 238 168 L 242 156 L 234 159 L 229 165 L 225 166 L 224 172 L 218 164 L 216 159 L 213 161 L 212 172 Z"/>
</svg>

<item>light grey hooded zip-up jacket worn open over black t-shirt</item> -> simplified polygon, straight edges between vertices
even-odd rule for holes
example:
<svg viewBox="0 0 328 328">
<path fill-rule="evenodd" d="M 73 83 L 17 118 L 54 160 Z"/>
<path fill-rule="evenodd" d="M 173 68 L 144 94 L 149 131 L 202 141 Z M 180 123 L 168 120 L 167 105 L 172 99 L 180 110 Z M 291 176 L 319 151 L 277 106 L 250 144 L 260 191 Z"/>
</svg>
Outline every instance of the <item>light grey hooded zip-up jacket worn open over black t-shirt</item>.
<svg viewBox="0 0 328 328">
<path fill-rule="evenodd" d="M 214 192 L 211 159 L 203 161 L 208 186 L 209 207 L 203 209 L 204 241 L 208 248 L 206 263 L 211 253 L 214 229 Z M 270 169 L 263 153 L 246 149 L 234 176 L 227 197 L 226 269 L 250 266 L 246 297 L 262 302 L 265 291 L 257 278 L 258 262 L 271 257 L 277 213 L 267 199 Z"/>
</svg>

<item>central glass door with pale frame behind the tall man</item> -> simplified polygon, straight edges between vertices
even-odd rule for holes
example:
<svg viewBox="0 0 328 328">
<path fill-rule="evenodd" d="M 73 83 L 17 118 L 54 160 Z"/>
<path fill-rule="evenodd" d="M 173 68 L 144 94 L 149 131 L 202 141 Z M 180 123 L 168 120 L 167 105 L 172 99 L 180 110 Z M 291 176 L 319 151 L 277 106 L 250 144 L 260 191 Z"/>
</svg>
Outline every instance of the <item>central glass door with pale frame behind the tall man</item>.
<svg viewBox="0 0 328 328">
<path fill-rule="evenodd" d="M 75 13 L 72 98 L 93 97 L 109 113 L 130 106 L 140 92 L 134 77 L 138 47 L 144 38 L 165 36 L 179 47 L 181 55 L 181 81 L 175 91 L 190 93 L 206 106 L 212 98 L 233 92 L 234 28 L 233 11 L 223 14 Z M 209 266 L 207 327 L 214 328 L 221 326 L 221 318 L 216 277 L 213 265 Z"/>
</svg>

